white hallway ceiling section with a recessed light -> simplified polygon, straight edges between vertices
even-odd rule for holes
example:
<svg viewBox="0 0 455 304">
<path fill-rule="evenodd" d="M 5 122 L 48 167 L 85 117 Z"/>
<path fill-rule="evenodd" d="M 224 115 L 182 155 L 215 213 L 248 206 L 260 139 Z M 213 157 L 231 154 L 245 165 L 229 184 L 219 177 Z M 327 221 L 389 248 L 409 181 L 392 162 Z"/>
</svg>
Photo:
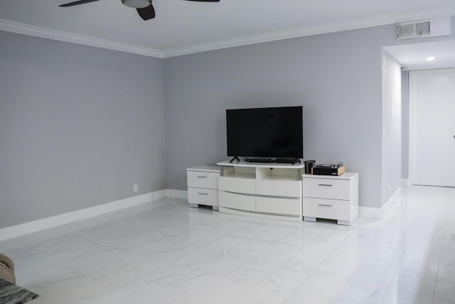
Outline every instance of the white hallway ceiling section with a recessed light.
<svg viewBox="0 0 455 304">
<path fill-rule="evenodd" d="M 385 51 L 408 70 L 455 68 L 454 40 L 387 46 Z M 434 57 L 434 61 L 427 61 L 428 57 Z"/>
</svg>

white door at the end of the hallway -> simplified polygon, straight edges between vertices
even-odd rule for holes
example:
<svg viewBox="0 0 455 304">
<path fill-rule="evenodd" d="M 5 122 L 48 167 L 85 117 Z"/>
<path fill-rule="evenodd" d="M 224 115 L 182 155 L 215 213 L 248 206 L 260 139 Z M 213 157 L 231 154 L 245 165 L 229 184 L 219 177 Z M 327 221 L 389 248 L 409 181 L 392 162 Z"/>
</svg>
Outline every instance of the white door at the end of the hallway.
<svg viewBox="0 0 455 304">
<path fill-rule="evenodd" d="M 410 183 L 455 187 L 455 68 L 410 71 Z"/>
</svg>

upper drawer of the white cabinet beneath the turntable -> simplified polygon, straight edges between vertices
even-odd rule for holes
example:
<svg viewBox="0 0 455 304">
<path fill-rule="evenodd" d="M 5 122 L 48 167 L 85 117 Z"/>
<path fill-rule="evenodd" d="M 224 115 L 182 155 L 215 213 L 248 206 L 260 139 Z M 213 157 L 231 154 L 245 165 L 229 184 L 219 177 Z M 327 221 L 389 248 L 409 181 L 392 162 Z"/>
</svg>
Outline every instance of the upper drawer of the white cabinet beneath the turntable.
<svg viewBox="0 0 455 304">
<path fill-rule="evenodd" d="M 350 199 L 350 182 L 347 179 L 303 179 L 303 196 L 320 199 Z"/>
</svg>

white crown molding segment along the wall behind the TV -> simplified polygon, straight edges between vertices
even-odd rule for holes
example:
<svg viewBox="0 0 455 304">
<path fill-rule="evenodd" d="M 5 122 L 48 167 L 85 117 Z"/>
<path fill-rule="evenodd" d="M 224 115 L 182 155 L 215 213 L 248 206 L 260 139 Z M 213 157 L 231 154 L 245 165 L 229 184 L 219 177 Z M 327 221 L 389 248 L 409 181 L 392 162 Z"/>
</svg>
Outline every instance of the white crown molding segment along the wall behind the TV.
<svg viewBox="0 0 455 304">
<path fill-rule="evenodd" d="M 444 6 L 444 8 L 433 11 L 412 12 L 406 14 L 394 14 L 381 16 L 375 19 L 363 19 L 352 22 L 332 23 L 323 26 L 313 26 L 305 28 L 292 28 L 283 31 L 272 31 L 259 35 L 240 36 L 220 41 L 185 46 L 182 48 L 171 48 L 164 51 L 164 58 L 183 56 L 192 53 L 213 51 L 222 48 L 232 48 L 235 46 L 247 46 L 250 44 L 264 43 L 270 41 L 279 41 L 290 38 L 299 38 L 304 36 L 313 36 L 322 33 L 334 33 L 338 31 L 349 31 L 359 28 L 369 28 L 373 26 L 383 26 L 392 23 L 416 21 L 421 19 L 432 19 L 445 16 L 454 16 L 455 6 Z"/>
</svg>

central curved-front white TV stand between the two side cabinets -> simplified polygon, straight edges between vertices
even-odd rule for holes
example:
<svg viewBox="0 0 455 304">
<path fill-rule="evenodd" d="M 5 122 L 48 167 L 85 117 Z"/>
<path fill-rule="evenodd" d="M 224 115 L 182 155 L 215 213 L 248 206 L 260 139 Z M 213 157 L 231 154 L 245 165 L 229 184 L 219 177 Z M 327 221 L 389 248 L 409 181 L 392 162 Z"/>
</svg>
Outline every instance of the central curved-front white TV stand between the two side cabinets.
<svg viewBox="0 0 455 304">
<path fill-rule="evenodd" d="M 240 161 L 218 162 L 218 166 L 221 213 L 302 221 L 304 164 Z"/>
</svg>

